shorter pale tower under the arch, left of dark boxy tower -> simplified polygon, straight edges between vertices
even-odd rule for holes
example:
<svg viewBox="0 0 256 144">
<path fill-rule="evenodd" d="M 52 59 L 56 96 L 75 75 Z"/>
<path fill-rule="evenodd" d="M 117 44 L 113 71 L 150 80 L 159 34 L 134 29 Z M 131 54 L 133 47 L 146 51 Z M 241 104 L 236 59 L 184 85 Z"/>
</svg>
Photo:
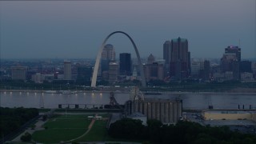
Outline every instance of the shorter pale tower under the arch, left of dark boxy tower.
<svg viewBox="0 0 256 144">
<path fill-rule="evenodd" d="M 118 63 L 117 62 L 110 62 L 109 64 L 109 82 L 114 83 L 118 82 Z"/>
</svg>

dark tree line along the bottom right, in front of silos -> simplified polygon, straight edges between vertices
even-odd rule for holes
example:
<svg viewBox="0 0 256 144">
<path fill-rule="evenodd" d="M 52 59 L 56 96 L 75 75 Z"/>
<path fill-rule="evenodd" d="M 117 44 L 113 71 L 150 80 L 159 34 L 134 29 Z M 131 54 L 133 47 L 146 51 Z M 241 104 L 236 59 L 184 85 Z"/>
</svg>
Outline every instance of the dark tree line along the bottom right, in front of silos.
<svg viewBox="0 0 256 144">
<path fill-rule="evenodd" d="M 108 134 L 113 138 L 143 143 L 183 144 L 253 144 L 256 136 L 231 131 L 227 126 L 202 126 L 197 122 L 180 121 L 175 125 L 163 125 L 158 120 L 142 121 L 122 118 L 110 125 Z"/>
</svg>

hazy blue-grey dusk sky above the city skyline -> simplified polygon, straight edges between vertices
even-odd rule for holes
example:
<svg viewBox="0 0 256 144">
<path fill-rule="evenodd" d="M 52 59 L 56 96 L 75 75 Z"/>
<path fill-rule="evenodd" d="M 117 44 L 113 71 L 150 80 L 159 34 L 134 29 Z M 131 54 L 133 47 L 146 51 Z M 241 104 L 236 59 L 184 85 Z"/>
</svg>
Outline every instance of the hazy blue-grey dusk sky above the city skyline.
<svg viewBox="0 0 256 144">
<path fill-rule="evenodd" d="M 255 0 L 1 1 L 0 14 L 1 58 L 96 58 L 116 30 L 142 57 L 162 58 L 162 44 L 181 37 L 192 58 L 221 58 L 239 39 L 242 58 L 256 58 Z M 122 34 L 107 43 L 135 57 Z"/>
</svg>

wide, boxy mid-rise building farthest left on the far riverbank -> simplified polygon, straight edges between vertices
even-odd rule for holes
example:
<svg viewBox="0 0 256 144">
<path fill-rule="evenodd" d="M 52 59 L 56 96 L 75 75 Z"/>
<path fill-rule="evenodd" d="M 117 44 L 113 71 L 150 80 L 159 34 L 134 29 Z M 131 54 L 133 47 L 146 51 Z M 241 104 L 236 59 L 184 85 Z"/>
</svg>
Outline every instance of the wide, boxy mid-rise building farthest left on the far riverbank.
<svg viewBox="0 0 256 144">
<path fill-rule="evenodd" d="M 27 66 L 11 66 L 11 78 L 14 80 L 26 80 Z"/>
</svg>

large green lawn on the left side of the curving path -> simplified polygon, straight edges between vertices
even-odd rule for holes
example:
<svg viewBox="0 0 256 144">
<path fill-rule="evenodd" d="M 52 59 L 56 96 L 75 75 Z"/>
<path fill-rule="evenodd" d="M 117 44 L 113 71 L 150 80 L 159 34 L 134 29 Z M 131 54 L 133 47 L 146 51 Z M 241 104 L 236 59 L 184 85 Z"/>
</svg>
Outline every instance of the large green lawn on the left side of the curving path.
<svg viewBox="0 0 256 144">
<path fill-rule="evenodd" d="M 87 116 L 82 114 L 58 115 L 43 125 L 47 127 L 46 130 L 34 132 L 32 138 L 35 142 L 42 143 L 58 143 L 78 138 L 90 125 L 91 121 L 87 120 Z"/>
</svg>

